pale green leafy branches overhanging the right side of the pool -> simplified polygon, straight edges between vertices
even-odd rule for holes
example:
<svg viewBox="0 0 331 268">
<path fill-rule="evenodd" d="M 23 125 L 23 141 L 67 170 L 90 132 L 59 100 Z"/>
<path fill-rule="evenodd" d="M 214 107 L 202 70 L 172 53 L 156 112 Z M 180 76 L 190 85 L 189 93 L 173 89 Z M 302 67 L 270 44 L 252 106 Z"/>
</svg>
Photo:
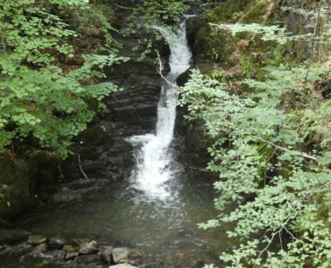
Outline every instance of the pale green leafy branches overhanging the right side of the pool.
<svg viewBox="0 0 331 268">
<path fill-rule="evenodd" d="M 267 82 L 272 84 L 272 79 Z M 208 148 L 212 156 L 208 169 L 220 174 L 215 183 L 220 192 L 215 201 L 219 218 L 199 226 L 236 222 L 229 237 L 246 240 L 233 254 L 221 255 L 229 263 L 226 267 L 259 265 L 262 257 L 267 258 L 263 267 L 301 267 L 306 259 L 327 267 L 331 256 L 330 236 L 325 223 L 318 220 L 320 204 L 316 200 L 318 196 L 329 198 L 331 172 L 324 168 L 331 162 L 329 153 L 307 155 L 298 150 L 303 138 L 293 122 L 294 115 L 279 109 L 279 96 L 284 92 L 280 87 L 270 88 L 263 95 L 242 98 L 229 94 L 225 84 L 206 79 L 199 71 L 193 71 L 181 90 L 181 105 L 188 105 L 190 111 L 188 119 L 203 119 L 214 141 Z M 233 202 L 238 208 L 224 214 Z M 264 232 L 263 239 L 250 240 Z M 284 235 L 293 237 L 287 251 L 268 250 L 269 243 Z M 265 247 L 264 255 L 259 255 Z"/>
</svg>

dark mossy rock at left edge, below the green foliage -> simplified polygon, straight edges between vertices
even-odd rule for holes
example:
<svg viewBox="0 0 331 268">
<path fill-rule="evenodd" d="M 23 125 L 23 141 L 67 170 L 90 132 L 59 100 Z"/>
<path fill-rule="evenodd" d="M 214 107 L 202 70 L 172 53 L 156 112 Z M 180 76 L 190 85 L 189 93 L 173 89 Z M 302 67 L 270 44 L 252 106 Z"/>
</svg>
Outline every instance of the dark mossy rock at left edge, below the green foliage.
<svg viewBox="0 0 331 268">
<path fill-rule="evenodd" d="M 56 191 L 60 160 L 37 151 L 29 159 L 0 155 L 0 217 L 6 219 L 35 205 L 36 197 L 47 201 Z"/>
</svg>

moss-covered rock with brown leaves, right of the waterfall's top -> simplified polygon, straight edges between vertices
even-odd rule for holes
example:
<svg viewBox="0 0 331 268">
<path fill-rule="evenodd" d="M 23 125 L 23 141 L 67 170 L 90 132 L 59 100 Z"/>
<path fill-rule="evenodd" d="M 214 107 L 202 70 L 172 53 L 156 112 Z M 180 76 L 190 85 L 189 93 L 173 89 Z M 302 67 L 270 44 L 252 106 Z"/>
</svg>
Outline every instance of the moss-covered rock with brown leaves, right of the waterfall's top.
<svg viewBox="0 0 331 268">
<path fill-rule="evenodd" d="M 228 0 L 219 4 L 211 13 L 207 15 L 208 21 L 203 25 L 196 37 L 193 45 L 193 53 L 196 62 L 203 62 L 208 59 L 213 63 L 219 63 L 224 69 L 231 68 L 237 64 L 250 59 L 250 65 L 260 69 L 260 63 L 254 62 L 255 58 L 250 54 L 263 53 L 272 50 L 276 44 L 261 41 L 259 37 L 253 38 L 251 33 L 239 33 L 233 37 L 227 29 L 216 29 L 209 23 L 269 23 L 274 21 L 276 16 L 272 13 L 273 5 L 267 0 Z M 266 13 L 269 15 L 266 16 Z M 251 42 L 251 39 L 254 42 Z M 243 41 L 243 42 L 242 42 Z M 245 44 L 242 46 L 242 44 Z M 242 58 L 242 56 L 244 58 Z M 260 70 L 252 71 L 258 73 Z"/>
</svg>

